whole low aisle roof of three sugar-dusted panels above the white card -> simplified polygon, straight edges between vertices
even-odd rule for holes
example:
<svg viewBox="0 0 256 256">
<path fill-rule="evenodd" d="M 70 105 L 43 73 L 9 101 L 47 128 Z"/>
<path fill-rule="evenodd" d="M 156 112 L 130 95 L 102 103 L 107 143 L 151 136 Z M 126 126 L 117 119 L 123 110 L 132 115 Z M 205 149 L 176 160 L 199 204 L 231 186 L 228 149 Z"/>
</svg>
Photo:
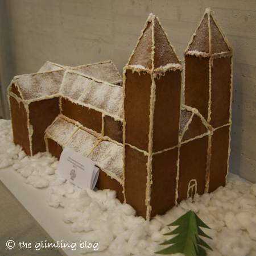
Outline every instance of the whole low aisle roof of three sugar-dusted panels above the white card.
<svg viewBox="0 0 256 256">
<path fill-rule="evenodd" d="M 59 115 L 46 130 L 47 138 L 69 147 L 93 160 L 110 177 L 122 183 L 123 147 L 111 141 L 102 141 L 100 134 L 80 125 L 76 121 Z"/>
</svg>

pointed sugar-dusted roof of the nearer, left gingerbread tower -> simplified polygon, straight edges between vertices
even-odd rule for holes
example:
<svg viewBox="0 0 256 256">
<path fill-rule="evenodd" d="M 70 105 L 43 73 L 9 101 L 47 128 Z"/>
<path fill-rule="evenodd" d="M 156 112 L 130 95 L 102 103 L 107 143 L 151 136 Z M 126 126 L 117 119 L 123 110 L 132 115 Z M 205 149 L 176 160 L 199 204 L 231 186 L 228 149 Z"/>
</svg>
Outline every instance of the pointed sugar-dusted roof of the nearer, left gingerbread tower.
<svg viewBox="0 0 256 256">
<path fill-rule="evenodd" d="M 150 14 L 127 65 L 138 71 L 158 72 L 159 69 L 182 69 L 180 64 L 159 19 Z"/>
</svg>

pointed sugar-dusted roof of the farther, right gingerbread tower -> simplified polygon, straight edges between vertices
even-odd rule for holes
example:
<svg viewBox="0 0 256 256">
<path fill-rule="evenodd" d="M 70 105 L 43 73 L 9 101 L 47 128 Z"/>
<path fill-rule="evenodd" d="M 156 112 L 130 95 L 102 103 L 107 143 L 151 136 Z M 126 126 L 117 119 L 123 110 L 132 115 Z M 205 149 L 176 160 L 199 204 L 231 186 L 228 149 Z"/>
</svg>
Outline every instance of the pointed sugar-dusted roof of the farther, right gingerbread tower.
<svg viewBox="0 0 256 256">
<path fill-rule="evenodd" d="M 214 11 L 207 8 L 196 32 L 185 51 L 185 55 L 210 57 L 232 55 L 232 47 L 218 23 Z"/>
</svg>

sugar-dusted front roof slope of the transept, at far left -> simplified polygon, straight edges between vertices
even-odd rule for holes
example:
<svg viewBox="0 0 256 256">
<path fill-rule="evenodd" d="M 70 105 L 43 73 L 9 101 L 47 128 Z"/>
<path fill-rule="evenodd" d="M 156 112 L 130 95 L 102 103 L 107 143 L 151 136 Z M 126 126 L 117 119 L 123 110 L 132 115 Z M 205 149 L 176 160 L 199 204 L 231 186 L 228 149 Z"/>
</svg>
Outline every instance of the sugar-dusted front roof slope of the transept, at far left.
<svg viewBox="0 0 256 256">
<path fill-rule="evenodd" d="M 16 77 L 24 100 L 35 100 L 45 96 L 58 94 L 64 71 L 23 75 Z"/>
</svg>

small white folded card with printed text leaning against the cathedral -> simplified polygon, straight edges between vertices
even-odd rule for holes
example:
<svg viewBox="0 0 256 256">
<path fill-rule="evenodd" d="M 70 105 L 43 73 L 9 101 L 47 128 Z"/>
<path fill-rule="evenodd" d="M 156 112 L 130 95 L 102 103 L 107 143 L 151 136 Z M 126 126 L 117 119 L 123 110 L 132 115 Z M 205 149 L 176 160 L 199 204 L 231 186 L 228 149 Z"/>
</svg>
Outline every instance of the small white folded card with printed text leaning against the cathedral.
<svg viewBox="0 0 256 256">
<path fill-rule="evenodd" d="M 82 189 L 93 189 L 98 180 L 100 170 L 94 162 L 85 158 L 69 147 L 65 147 L 60 155 L 57 174 Z"/>
</svg>

